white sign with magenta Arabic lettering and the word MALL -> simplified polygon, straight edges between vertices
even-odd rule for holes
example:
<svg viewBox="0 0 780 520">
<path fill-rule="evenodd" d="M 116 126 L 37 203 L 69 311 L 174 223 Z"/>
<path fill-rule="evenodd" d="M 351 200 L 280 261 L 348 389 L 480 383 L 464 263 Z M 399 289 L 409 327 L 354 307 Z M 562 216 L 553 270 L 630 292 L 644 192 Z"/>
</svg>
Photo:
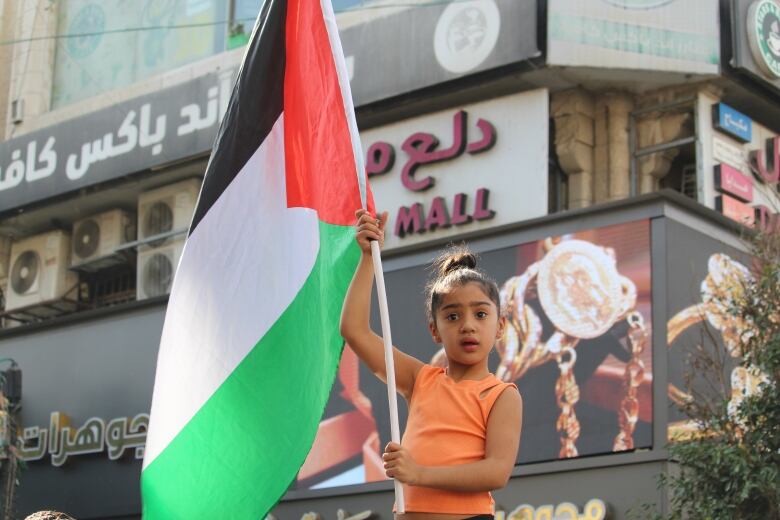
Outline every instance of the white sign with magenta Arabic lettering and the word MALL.
<svg viewBox="0 0 780 520">
<path fill-rule="evenodd" d="M 363 132 L 385 249 L 547 213 L 547 91 Z"/>
</svg>

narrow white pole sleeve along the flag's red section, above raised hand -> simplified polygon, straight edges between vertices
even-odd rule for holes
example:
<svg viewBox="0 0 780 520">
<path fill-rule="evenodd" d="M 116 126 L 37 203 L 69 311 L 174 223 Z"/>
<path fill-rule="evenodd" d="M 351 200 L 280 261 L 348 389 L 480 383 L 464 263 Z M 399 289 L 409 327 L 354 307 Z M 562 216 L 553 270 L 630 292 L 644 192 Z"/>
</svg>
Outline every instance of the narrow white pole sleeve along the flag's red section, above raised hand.
<svg viewBox="0 0 780 520">
<path fill-rule="evenodd" d="M 350 74 L 347 69 L 347 63 L 344 61 L 344 50 L 341 48 L 339 28 L 336 25 L 336 15 L 333 12 L 331 0 L 320 0 L 320 8 L 322 9 L 322 17 L 325 20 L 325 29 L 328 31 L 333 64 L 336 67 L 336 74 L 339 78 L 341 99 L 344 102 L 344 115 L 349 126 L 352 154 L 355 157 L 355 173 L 357 174 L 358 187 L 360 189 L 360 201 L 365 208 L 368 204 L 366 200 L 366 165 L 363 160 L 363 147 L 360 144 L 360 133 L 358 132 L 357 120 L 355 119 L 355 107 L 352 103 L 352 87 L 349 84 Z"/>
</svg>

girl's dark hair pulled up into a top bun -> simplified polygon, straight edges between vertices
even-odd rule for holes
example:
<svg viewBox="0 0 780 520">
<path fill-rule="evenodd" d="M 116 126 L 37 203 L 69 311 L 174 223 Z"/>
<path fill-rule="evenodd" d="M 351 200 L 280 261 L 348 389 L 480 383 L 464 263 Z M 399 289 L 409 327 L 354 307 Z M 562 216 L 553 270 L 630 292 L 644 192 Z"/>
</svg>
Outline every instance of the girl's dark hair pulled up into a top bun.
<svg viewBox="0 0 780 520">
<path fill-rule="evenodd" d="M 468 247 L 451 245 L 431 264 L 433 274 L 425 286 L 426 311 L 428 319 L 434 321 L 436 310 L 441 305 L 442 295 L 453 287 L 476 283 L 501 312 L 501 298 L 496 281 L 477 269 L 477 257 Z"/>
</svg>

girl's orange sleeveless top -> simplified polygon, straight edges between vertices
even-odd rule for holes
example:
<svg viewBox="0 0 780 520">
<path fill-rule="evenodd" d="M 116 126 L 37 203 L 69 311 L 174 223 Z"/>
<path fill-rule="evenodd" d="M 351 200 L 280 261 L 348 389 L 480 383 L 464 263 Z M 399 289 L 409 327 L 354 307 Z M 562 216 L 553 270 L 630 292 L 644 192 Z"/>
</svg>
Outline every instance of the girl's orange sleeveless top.
<svg viewBox="0 0 780 520">
<path fill-rule="evenodd" d="M 414 381 L 401 444 L 423 466 L 455 466 L 484 459 L 488 415 L 510 386 L 515 385 L 502 383 L 493 374 L 480 381 L 455 382 L 443 368 L 423 365 Z M 493 514 L 494 509 L 489 491 L 464 493 L 404 485 L 404 502 L 409 512 L 478 515 Z"/>
</svg>

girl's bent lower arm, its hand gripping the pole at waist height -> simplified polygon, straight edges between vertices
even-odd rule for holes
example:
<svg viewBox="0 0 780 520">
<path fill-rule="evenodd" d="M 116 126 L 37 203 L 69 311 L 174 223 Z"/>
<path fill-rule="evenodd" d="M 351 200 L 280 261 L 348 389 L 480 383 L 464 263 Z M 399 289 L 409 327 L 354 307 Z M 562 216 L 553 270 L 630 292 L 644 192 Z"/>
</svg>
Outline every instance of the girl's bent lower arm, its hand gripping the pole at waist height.
<svg viewBox="0 0 780 520">
<path fill-rule="evenodd" d="M 457 466 L 421 466 L 409 452 L 391 442 L 382 458 L 388 477 L 411 486 L 448 491 L 477 492 L 501 489 L 509 481 L 520 448 L 523 400 L 515 388 L 507 388 L 490 410 L 485 458 Z"/>
</svg>

